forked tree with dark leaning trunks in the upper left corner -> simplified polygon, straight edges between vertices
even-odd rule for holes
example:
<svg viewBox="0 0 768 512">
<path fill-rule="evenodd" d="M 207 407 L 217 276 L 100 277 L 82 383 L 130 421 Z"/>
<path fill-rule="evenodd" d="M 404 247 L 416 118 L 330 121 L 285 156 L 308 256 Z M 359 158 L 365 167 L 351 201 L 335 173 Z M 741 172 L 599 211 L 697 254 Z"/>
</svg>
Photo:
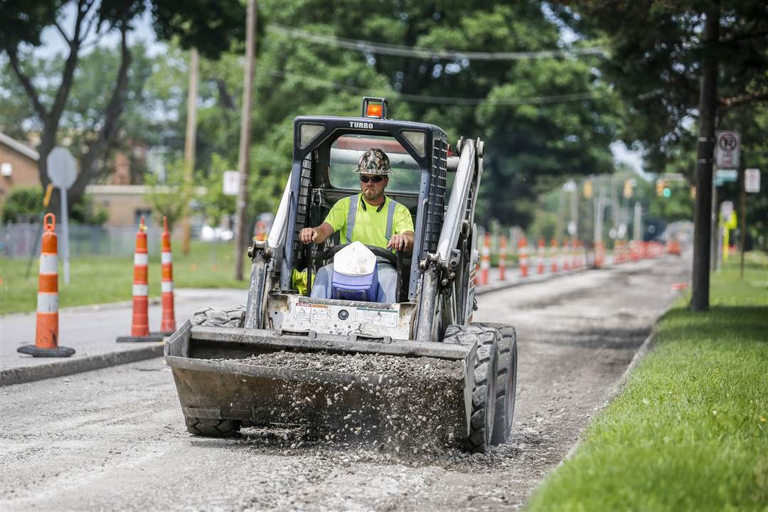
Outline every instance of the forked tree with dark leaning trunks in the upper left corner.
<svg viewBox="0 0 768 512">
<path fill-rule="evenodd" d="M 10 66 L 41 125 L 38 167 L 44 187 L 48 183 L 46 159 L 56 144 L 61 117 L 71 94 L 82 52 L 111 32 L 117 32 L 120 37 L 120 64 L 111 84 L 111 95 L 99 113 L 100 121 L 82 151 L 81 172 L 70 191 L 72 203 L 98 175 L 101 162 L 114 144 L 126 101 L 128 70 L 131 67 L 127 33 L 147 5 L 151 5 L 154 27 L 161 37 L 177 36 L 184 45 L 200 45 L 204 47 L 205 55 L 219 55 L 230 47 L 233 38 L 242 33 L 239 20 L 243 8 L 237 0 L 199 0 L 186 4 L 170 0 L 154 0 L 151 4 L 144 0 L 8 0 L 3 3 L 0 23 L 4 30 L 0 35 L 0 48 L 8 55 Z M 74 11 L 69 20 L 68 9 Z M 71 22 L 69 31 L 64 26 L 65 21 Z M 51 97 L 41 94 L 25 65 L 30 57 L 29 48 L 40 45 L 41 32 L 47 27 L 55 27 L 68 47 L 58 71 L 60 78 L 54 80 L 57 86 Z M 100 78 L 102 85 L 108 84 L 103 77 Z"/>
</svg>

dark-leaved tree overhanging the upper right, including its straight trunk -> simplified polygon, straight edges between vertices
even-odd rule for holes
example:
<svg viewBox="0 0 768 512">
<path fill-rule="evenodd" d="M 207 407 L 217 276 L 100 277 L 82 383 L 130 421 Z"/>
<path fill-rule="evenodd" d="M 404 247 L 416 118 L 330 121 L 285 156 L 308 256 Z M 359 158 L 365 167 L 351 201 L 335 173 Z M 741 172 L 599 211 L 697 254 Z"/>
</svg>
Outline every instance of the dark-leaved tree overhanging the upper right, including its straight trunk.
<svg viewBox="0 0 768 512">
<path fill-rule="evenodd" d="M 579 0 L 573 5 L 581 15 L 578 28 L 607 37 L 611 58 L 601 70 L 627 102 L 631 121 L 624 138 L 639 142 L 651 165 L 663 168 L 675 147 L 694 137 L 690 125 L 698 121 L 691 307 L 707 309 L 716 119 L 729 109 L 768 100 L 768 4 Z"/>
</svg>

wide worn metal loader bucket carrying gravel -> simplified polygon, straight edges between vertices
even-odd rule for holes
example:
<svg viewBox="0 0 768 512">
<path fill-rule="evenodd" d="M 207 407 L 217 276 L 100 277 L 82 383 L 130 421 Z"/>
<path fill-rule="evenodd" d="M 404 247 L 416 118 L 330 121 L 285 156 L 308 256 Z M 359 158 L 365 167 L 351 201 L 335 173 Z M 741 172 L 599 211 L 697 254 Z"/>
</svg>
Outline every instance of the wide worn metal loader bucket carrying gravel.
<svg viewBox="0 0 768 512">
<path fill-rule="evenodd" d="M 207 418 L 303 428 L 321 441 L 453 448 L 468 435 L 476 350 L 187 322 L 167 340 L 165 360 L 187 424 Z"/>
</svg>

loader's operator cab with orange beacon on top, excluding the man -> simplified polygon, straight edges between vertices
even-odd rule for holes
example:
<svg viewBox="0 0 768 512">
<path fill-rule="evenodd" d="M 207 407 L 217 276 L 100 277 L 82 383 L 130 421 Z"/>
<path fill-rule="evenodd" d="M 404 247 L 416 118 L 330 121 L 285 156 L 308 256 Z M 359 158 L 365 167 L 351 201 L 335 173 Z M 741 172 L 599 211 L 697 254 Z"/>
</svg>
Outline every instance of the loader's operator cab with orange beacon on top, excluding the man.
<svg viewBox="0 0 768 512">
<path fill-rule="evenodd" d="M 334 233 L 322 246 L 301 243 L 298 233 L 304 227 L 323 223 L 337 201 L 360 193 L 359 175 L 353 171 L 362 154 L 371 148 L 379 148 L 389 157 L 392 174 L 385 194 L 406 206 L 412 216 L 414 253 L 423 258 L 428 251 L 434 252 L 445 203 L 447 137 L 431 124 L 389 120 L 387 110 L 385 98 L 366 97 L 362 101 L 361 117 L 296 117 L 293 173 L 289 183 L 296 209 L 289 209 L 287 220 L 289 226 L 293 224 L 293 237 L 285 240 L 285 254 L 292 257 L 283 259 L 280 277 L 280 287 L 286 292 L 301 290 L 302 295 L 310 295 L 317 270 L 331 263 L 336 253 L 346 246 L 342 238 L 346 239 L 347 233 L 344 237 Z M 291 219 L 294 211 L 295 218 Z M 367 247 L 379 262 L 388 262 L 397 269 L 398 302 L 415 300 L 419 269 L 414 253 Z M 291 279 L 286 279 L 286 274 Z M 347 275 L 334 274 L 334 299 L 371 302 L 375 275 L 349 279 Z M 369 284 L 366 287 L 361 282 Z"/>
</svg>

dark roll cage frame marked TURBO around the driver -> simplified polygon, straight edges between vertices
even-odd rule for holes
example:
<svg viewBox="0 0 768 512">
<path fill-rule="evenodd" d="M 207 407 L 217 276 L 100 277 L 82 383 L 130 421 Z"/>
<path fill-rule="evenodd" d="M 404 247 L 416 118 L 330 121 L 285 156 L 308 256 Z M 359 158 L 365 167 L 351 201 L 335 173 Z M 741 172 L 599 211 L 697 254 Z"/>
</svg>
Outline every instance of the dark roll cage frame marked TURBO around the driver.
<svg viewBox="0 0 768 512">
<path fill-rule="evenodd" d="M 419 282 L 419 262 L 427 253 L 435 252 L 442 229 L 449 167 L 448 137 L 433 124 L 380 118 L 299 116 L 293 121 L 290 180 L 269 240 L 280 268 L 280 290 L 290 292 L 293 269 L 303 261 L 309 263 L 299 241 L 300 230 L 319 225 L 336 200 L 359 193 L 359 188 L 335 187 L 330 180 L 331 145 L 344 135 L 392 137 L 389 144 L 384 144 L 389 147 L 382 149 L 400 153 L 404 150 L 419 166 L 415 171 L 419 173 L 417 192 L 387 193 L 415 216 L 413 257 L 408 275 L 401 278 L 407 277 L 407 299 L 413 301 Z M 333 240 L 329 239 L 326 244 L 333 245 Z"/>
</svg>

